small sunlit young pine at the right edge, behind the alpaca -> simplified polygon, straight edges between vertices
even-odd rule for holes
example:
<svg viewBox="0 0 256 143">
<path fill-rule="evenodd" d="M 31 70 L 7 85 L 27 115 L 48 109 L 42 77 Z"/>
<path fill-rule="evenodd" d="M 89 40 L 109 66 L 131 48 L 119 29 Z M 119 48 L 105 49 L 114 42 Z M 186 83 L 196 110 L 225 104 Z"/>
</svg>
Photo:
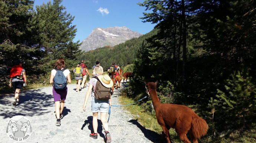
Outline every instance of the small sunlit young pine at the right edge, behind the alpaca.
<svg viewBox="0 0 256 143">
<path fill-rule="evenodd" d="M 217 91 L 216 113 L 224 128 L 249 127 L 255 119 L 256 88 L 248 71 L 236 71 L 226 80 L 226 91 Z"/>
</svg>

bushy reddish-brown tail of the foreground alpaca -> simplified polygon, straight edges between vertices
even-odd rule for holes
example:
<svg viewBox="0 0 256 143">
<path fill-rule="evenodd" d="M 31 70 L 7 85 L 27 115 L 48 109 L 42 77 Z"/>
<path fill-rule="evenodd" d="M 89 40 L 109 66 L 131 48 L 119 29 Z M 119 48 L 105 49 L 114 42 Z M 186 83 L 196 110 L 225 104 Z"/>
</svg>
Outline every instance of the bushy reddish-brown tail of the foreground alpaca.
<svg viewBox="0 0 256 143">
<path fill-rule="evenodd" d="M 191 129 L 194 137 L 196 137 L 197 139 L 200 139 L 201 136 L 206 135 L 208 130 L 208 125 L 204 119 L 197 116 L 197 118 L 193 119 L 191 123 L 192 123 Z"/>
</svg>

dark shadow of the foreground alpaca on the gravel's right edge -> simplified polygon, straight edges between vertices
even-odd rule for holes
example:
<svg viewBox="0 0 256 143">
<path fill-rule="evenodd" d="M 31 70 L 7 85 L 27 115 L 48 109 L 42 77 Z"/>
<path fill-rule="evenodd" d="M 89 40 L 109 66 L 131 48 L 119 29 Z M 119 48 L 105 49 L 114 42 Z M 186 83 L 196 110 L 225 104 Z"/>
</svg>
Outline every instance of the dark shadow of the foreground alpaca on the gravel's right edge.
<svg viewBox="0 0 256 143">
<path fill-rule="evenodd" d="M 149 139 L 151 142 L 153 143 L 158 143 L 161 140 L 161 135 L 159 135 L 158 133 L 146 129 L 145 127 L 143 127 L 137 120 L 132 119 L 128 122 L 131 122 L 132 124 L 136 125 L 141 131 L 142 133 L 144 133 L 144 136 L 147 137 L 147 139 Z"/>
</svg>

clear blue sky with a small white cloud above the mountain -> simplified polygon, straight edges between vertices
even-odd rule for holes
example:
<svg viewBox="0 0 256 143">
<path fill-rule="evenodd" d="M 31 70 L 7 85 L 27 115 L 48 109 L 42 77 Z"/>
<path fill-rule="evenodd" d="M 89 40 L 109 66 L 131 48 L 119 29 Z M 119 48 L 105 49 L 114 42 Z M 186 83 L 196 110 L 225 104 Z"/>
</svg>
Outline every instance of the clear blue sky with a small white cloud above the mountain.
<svg viewBox="0 0 256 143">
<path fill-rule="evenodd" d="M 53 0 L 50 0 L 51 2 Z M 76 25 L 77 32 L 74 42 L 82 42 L 89 36 L 93 29 L 101 27 L 127 27 L 132 31 L 146 34 L 154 29 L 155 24 L 142 22 L 145 7 L 138 2 L 144 0 L 63 0 L 67 13 L 75 16 L 72 25 Z M 36 5 L 42 5 L 49 0 L 35 0 Z"/>
</svg>

